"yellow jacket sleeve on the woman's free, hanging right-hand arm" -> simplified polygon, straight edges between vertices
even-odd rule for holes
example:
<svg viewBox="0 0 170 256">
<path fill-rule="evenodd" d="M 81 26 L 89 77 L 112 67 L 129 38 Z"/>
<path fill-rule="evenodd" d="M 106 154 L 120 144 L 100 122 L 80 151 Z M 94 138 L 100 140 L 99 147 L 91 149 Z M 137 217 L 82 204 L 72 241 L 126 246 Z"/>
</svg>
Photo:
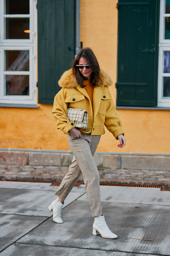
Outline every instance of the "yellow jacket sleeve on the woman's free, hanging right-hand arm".
<svg viewBox="0 0 170 256">
<path fill-rule="evenodd" d="M 117 111 L 110 92 L 109 96 L 111 99 L 109 99 L 107 102 L 105 126 L 109 130 L 109 132 L 111 132 L 114 135 L 116 140 L 118 140 L 117 136 L 120 134 L 124 135 L 124 131 L 122 129 L 121 119 L 117 115 Z"/>
</svg>

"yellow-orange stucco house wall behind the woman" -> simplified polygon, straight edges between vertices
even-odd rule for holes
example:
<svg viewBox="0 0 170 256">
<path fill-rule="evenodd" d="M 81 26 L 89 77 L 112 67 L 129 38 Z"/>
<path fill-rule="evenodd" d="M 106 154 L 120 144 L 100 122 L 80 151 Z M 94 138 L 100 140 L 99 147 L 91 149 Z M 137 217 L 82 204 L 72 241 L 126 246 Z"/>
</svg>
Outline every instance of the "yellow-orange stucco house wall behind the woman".
<svg viewBox="0 0 170 256">
<path fill-rule="evenodd" d="M 116 0 L 80 0 L 80 41 L 94 50 L 100 67 L 112 77 L 116 101 L 117 9 Z M 69 150 L 66 135 L 56 129 L 52 105 L 39 109 L 0 108 L 0 147 Z M 169 110 L 118 109 L 127 144 L 106 131 L 97 151 L 169 154 Z"/>
</svg>

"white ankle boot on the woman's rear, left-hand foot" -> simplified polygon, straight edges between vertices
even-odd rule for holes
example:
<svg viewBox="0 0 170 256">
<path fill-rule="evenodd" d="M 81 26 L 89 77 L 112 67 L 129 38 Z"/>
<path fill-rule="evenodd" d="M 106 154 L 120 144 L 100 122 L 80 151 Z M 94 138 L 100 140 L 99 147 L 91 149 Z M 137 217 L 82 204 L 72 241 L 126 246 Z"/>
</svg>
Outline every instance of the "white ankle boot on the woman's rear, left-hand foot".
<svg viewBox="0 0 170 256">
<path fill-rule="evenodd" d="M 48 210 L 51 212 L 53 211 L 53 220 L 57 223 L 63 223 L 61 218 L 61 210 L 62 210 L 63 204 L 60 202 L 60 200 L 55 199 L 49 206 Z"/>
</svg>

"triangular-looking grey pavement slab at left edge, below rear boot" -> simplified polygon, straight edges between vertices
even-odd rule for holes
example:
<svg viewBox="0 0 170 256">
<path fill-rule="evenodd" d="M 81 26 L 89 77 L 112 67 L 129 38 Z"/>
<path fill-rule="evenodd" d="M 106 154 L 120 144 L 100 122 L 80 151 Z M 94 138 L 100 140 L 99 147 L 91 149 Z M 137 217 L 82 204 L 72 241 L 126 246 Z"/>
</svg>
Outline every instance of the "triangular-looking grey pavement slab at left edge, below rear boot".
<svg viewBox="0 0 170 256">
<path fill-rule="evenodd" d="M 45 217 L 0 214 L 0 250 L 14 243 L 45 220 L 47 220 Z"/>
</svg>

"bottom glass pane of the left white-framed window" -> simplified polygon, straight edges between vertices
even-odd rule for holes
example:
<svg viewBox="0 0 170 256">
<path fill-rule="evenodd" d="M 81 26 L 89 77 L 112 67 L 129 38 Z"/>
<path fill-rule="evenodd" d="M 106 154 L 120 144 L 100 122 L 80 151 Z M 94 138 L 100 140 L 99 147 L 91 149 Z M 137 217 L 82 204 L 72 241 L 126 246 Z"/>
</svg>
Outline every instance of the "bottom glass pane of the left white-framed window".
<svg viewBox="0 0 170 256">
<path fill-rule="evenodd" d="M 6 75 L 6 95 L 29 95 L 29 76 Z"/>
</svg>

